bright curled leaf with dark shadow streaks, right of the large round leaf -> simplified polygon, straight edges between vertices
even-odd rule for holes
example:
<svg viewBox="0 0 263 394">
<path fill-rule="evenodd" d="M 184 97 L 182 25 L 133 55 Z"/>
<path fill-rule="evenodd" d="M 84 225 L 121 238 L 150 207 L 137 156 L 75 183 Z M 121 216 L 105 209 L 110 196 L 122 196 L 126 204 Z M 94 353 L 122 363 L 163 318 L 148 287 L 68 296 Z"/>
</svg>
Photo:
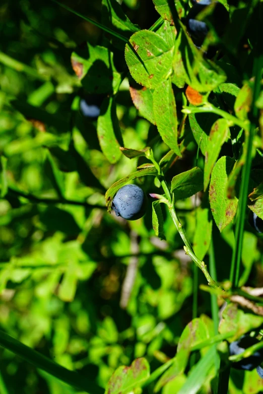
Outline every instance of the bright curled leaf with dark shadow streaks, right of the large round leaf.
<svg viewBox="0 0 263 394">
<path fill-rule="evenodd" d="M 226 75 L 217 64 L 204 59 L 179 21 L 181 30 L 175 40 L 173 58 L 173 79 L 185 81 L 198 92 L 211 92 L 226 80 Z"/>
</svg>

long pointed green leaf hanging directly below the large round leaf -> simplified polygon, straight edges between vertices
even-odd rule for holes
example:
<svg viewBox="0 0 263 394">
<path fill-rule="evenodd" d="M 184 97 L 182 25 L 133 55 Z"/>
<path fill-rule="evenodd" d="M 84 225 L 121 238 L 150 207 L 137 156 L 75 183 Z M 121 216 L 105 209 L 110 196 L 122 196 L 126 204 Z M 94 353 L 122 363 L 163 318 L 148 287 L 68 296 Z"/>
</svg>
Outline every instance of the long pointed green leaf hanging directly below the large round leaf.
<svg viewBox="0 0 263 394">
<path fill-rule="evenodd" d="M 177 113 L 171 80 L 161 82 L 153 94 L 154 117 L 162 140 L 181 156 L 177 143 Z"/>
</svg>

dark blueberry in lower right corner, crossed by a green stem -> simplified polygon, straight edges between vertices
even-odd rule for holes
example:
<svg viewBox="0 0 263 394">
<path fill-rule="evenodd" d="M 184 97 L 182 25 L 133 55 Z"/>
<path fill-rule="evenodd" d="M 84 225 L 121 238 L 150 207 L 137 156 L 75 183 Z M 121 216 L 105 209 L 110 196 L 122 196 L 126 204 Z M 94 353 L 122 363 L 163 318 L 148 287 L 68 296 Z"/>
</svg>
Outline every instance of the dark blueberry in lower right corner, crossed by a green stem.
<svg viewBox="0 0 263 394">
<path fill-rule="evenodd" d="M 249 348 L 252 345 L 258 343 L 256 338 L 252 338 L 249 335 L 244 335 L 238 341 L 234 341 L 229 345 L 230 355 L 233 356 L 235 354 L 242 353 L 245 349 Z M 251 371 L 256 368 L 263 361 L 263 353 L 262 351 L 256 351 L 251 356 L 244 358 L 241 361 L 233 362 L 233 367 L 236 369 L 245 369 L 247 371 Z"/>
</svg>

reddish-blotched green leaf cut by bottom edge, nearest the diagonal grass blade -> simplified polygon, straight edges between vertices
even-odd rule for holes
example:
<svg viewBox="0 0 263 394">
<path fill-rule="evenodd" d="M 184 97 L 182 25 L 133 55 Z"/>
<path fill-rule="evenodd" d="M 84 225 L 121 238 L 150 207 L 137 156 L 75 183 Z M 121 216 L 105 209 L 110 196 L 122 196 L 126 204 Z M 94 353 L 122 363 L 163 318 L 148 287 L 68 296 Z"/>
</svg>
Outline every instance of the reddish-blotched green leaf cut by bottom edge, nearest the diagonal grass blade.
<svg viewBox="0 0 263 394">
<path fill-rule="evenodd" d="M 145 358 L 136 359 L 130 367 L 121 366 L 113 373 L 105 394 L 128 394 L 140 387 L 150 376 L 150 366 Z"/>
</svg>

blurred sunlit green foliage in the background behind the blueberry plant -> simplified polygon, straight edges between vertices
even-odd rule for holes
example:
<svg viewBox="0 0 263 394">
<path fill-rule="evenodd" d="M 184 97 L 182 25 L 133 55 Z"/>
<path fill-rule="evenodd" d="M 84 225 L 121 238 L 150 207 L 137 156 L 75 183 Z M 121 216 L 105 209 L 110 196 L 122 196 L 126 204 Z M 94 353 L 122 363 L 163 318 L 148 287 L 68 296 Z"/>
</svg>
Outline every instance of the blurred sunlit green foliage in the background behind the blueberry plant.
<svg viewBox="0 0 263 394">
<path fill-rule="evenodd" d="M 97 0 L 64 4 L 101 20 Z M 142 29 L 159 17 L 151 0 L 124 0 L 122 8 Z M 102 44 L 105 37 L 51 1 L 4 1 L 0 20 L 1 329 L 103 387 L 119 365 L 136 357 L 146 356 L 153 370 L 174 356 L 192 318 L 192 264 L 165 212 L 167 240 L 160 241 L 150 204 L 143 219 L 129 223 L 105 209 L 105 190 L 142 164 L 124 156 L 110 164 L 100 150 L 96 121 L 79 109 L 85 92 L 71 53 L 86 41 Z M 120 63 L 121 56 L 119 51 Z M 157 140 L 156 127 L 139 116 L 127 78 L 116 102 L 124 146 L 152 143 L 160 159 L 168 148 Z M 196 152 L 191 142 L 167 176 L 192 168 Z M 203 158 L 198 164 L 203 167 Z M 4 195 L 7 178 L 11 186 Z M 147 192 L 160 190 L 153 177 L 138 184 Z M 195 204 L 194 199 L 177 203 L 191 240 Z M 213 232 L 218 280 L 224 281 L 233 232 L 231 225 L 222 237 L 217 228 Z M 263 285 L 261 250 L 262 239 L 247 223 L 243 282 L 255 287 Z M 135 275 L 130 297 L 129 286 L 123 289 L 127 275 Z M 201 275 L 199 282 L 205 283 Z M 198 293 L 202 313 L 211 316 L 205 292 Z M 0 371 L 11 394 L 78 392 L 3 348 Z"/>
</svg>

